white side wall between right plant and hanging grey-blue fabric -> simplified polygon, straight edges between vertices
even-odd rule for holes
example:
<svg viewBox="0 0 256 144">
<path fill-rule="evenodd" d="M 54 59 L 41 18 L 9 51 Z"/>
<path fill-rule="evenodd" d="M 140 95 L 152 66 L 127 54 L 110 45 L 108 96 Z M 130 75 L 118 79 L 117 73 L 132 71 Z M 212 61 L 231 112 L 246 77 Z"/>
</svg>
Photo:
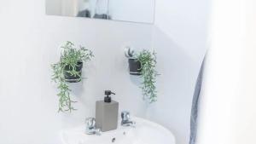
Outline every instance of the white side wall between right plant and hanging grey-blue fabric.
<svg viewBox="0 0 256 144">
<path fill-rule="evenodd" d="M 209 0 L 156 0 L 153 48 L 158 55 L 158 102 L 148 117 L 189 143 L 191 101 L 207 49 Z"/>
</svg>

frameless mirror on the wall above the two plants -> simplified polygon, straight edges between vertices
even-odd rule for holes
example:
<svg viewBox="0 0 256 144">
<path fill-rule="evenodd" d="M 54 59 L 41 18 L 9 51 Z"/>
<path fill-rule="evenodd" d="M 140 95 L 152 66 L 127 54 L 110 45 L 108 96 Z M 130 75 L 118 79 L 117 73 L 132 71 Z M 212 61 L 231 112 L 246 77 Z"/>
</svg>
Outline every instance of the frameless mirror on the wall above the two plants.
<svg viewBox="0 0 256 144">
<path fill-rule="evenodd" d="M 154 22 L 154 0 L 46 0 L 45 7 L 48 15 Z"/>
</svg>

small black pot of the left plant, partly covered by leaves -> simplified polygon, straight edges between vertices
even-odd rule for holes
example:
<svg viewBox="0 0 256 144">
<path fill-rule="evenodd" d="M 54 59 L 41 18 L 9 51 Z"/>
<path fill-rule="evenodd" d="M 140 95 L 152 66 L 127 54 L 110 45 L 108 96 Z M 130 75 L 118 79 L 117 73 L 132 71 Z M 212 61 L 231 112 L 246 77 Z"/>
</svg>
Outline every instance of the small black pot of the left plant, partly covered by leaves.
<svg viewBox="0 0 256 144">
<path fill-rule="evenodd" d="M 68 73 L 67 71 L 72 71 L 72 67 L 71 66 L 65 66 L 64 68 L 64 78 L 65 81 L 68 83 L 78 83 L 81 81 L 81 76 L 82 76 L 82 68 L 83 68 L 83 62 L 78 62 L 78 66 L 76 66 L 76 71 L 79 72 L 79 76 L 73 76 L 70 73 Z"/>
</svg>

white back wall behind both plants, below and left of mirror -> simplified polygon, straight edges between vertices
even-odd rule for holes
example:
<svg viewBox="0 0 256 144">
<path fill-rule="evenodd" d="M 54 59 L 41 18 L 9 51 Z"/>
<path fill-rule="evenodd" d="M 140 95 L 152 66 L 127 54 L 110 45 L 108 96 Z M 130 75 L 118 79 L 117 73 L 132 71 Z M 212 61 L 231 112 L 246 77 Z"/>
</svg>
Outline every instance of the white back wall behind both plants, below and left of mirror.
<svg viewBox="0 0 256 144">
<path fill-rule="evenodd" d="M 151 46 L 151 26 L 45 15 L 44 0 L 9 0 L 0 5 L 0 143 L 57 144 L 58 131 L 94 116 L 104 89 L 116 92 L 120 111 L 144 117 L 146 104 L 127 72 L 124 47 Z M 50 64 L 66 40 L 85 45 L 96 58 L 84 67 L 73 113 L 57 113 Z M 73 87 L 74 88 L 74 87 Z"/>
</svg>

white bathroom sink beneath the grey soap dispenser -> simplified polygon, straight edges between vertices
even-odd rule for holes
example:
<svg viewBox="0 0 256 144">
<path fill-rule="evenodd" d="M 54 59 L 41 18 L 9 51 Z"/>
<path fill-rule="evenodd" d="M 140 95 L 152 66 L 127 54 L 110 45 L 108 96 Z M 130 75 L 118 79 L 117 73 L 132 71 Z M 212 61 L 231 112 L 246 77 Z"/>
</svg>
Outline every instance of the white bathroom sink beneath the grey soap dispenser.
<svg viewBox="0 0 256 144">
<path fill-rule="evenodd" d="M 85 124 L 61 131 L 63 144 L 175 144 L 174 135 L 166 128 L 143 118 L 132 118 L 136 127 L 118 126 L 102 135 L 86 135 Z"/>
</svg>

